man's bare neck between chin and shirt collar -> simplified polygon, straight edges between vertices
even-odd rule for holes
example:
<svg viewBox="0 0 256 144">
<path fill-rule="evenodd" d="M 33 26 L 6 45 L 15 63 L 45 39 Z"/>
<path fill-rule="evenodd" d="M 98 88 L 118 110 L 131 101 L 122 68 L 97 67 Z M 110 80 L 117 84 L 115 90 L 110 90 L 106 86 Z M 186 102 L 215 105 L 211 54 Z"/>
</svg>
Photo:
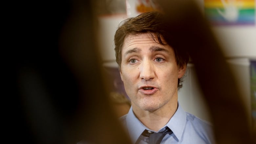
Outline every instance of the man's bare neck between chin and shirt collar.
<svg viewBox="0 0 256 144">
<path fill-rule="evenodd" d="M 157 132 L 169 122 L 177 108 L 178 100 L 175 100 L 155 111 L 144 111 L 136 106 L 133 107 L 133 111 L 143 125 Z"/>
</svg>

